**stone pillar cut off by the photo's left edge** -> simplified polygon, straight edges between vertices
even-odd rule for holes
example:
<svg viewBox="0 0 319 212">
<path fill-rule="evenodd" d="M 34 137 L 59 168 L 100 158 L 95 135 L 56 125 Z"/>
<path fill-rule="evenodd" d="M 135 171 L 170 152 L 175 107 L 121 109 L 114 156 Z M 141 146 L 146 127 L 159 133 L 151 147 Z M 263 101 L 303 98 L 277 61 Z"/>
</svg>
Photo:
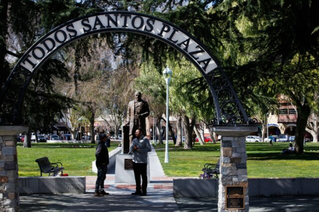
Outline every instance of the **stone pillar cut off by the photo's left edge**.
<svg viewBox="0 0 319 212">
<path fill-rule="evenodd" d="M 27 126 L 0 126 L 0 211 L 19 210 L 16 135 Z"/>
</svg>

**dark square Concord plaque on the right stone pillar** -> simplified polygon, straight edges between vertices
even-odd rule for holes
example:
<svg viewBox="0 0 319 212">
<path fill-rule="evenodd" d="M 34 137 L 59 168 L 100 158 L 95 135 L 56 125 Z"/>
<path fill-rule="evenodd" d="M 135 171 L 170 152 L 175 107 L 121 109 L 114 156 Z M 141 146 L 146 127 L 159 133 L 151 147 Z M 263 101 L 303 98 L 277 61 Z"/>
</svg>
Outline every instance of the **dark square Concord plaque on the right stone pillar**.
<svg viewBox="0 0 319 212">
<path fill-rule="evenodd" d="M 226 186 L 226 210 L 245 209 L 245 188 L 244 186 Z"/>
</svg>

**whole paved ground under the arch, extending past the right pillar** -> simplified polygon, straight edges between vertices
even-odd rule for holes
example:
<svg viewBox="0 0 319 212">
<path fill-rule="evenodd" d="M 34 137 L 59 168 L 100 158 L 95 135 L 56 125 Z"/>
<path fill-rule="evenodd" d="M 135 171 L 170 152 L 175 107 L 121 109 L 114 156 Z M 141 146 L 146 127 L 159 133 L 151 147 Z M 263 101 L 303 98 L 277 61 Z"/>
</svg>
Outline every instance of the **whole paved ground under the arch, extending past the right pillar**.
<svg viewBox="0 0 319 212">
<path fill-rule="evenodd" d="M 109 196 L 94 197 L 96 176 L 86 177 L 86 194 L 43 194 L 20 196 L 21 212 L 217 212 L 217 198 L 176 198 L 172 177 L 165 177 L 159 158 L 150 152 L 148 196 L 131 195 L 135 185 L 115 184 L 115 168 L 108 170 L 105 190 Z M 252 197 L 250 212 L 319 212 L 319 196 Z"/>
</svg>

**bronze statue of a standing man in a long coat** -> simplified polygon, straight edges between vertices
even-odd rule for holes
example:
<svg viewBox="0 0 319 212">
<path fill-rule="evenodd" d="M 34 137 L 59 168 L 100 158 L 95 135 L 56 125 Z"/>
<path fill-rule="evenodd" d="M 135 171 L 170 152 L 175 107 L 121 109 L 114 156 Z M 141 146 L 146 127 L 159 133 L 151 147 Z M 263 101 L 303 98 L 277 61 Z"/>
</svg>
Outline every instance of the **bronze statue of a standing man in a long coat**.
<svg viewBox="0 0 319 212">
<path fill-rule="evenodd" d="M 135 100 L 131 101 L 128 106 L 127 123 L 130 125 L 130 146 L 135 138 L 135 131 L 142 129 L 143 135 L 146 136 L 146 117 L 150 115 L 149 104 L 142 100 L 141 92 L 135 92 Z"/>
</svg>

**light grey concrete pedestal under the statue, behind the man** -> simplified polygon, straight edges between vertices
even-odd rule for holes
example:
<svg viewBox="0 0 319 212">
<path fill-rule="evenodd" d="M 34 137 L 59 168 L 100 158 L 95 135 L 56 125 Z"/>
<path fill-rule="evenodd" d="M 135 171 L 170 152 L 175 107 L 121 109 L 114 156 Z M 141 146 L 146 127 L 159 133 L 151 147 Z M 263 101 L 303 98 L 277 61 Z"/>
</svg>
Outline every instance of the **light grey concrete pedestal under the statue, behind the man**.
<svg viewBox="0 0 319 212">
<path fill-rule="evenodd" d="M 134 172 L 132 170 L 125 170 L 124 168 L 124 161 L 125 159 L 133 159 L 131 154 L 118 154 L 116 156 L 116 163 L 115 163 L 115 183 L 128 183 L 128 184 L 135 184 L 135 177 Z M 148 173 L 148 183 L 150 183 L 150 159 L 148 156 L 148 166 L 147 166 L 147 173 Z M 142 180 L 141 180 L 142 182 Z"/>
</svg>

